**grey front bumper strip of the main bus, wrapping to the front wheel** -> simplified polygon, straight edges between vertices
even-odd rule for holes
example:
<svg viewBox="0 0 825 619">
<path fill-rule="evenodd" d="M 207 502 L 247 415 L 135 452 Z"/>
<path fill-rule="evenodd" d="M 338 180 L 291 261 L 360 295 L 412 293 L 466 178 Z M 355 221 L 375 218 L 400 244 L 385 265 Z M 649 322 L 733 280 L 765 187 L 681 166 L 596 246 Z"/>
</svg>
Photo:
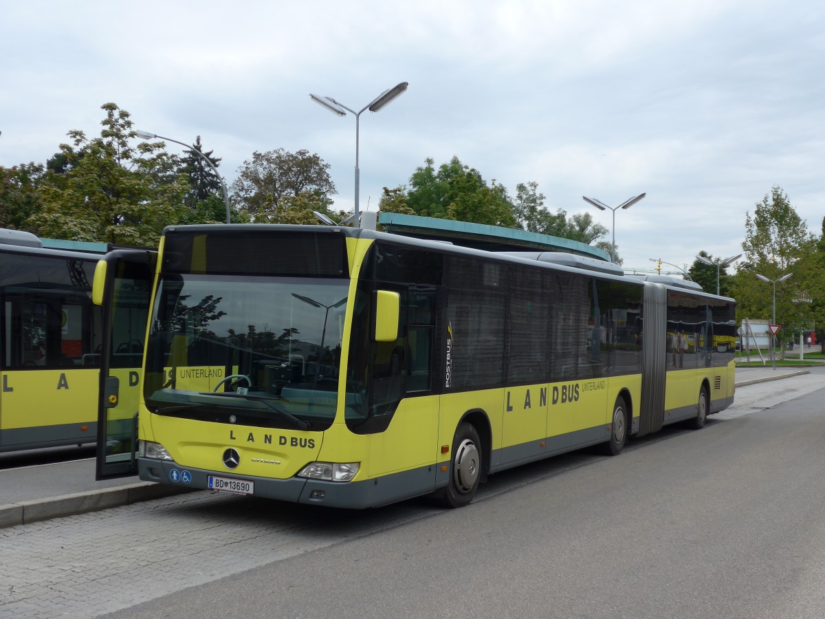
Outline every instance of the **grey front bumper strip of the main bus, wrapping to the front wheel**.
<svg viewBox="0 0 825 619">
<path fill-rule="evenodd" d="M 188 475 L 184 475 L 185 471 Z M 191 489 L 209 489 L 209 475 L 219 475 L 254 482 L 254 496 L 256 497 L 291 503 L 325 505 L 332 508 L 374 508 L 428 494 L 436 489 L 435 465 L 385 475 L 375 480 L 337 483 L 304 480 L 297 477 L 290 477 L 287 480 L 271 480 L 264 477 L 234 475 L 229 470 L 193 469 L 172 461 L 139 458 L 138 475 L 144 481 Z M 173 477 L 177 481 L 172 481 Z M 189 479 L 189 482 L 184 482 L 184 479 Z"/>
</svg>

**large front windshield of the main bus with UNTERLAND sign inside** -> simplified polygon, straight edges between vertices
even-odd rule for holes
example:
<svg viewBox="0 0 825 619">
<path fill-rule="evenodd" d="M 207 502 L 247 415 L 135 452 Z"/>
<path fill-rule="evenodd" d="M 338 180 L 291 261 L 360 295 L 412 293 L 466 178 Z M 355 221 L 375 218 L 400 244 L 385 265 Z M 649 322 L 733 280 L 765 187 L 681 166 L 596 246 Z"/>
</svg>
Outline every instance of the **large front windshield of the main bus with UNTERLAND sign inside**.
<svg viewBox="0 0 825 619">
<path fill-rule="evenodd" d="M 346 279 L 163 276 L 149 328 L 146 405 L 218 422 L 328 426 L 348 290 Z"/>
</svg>

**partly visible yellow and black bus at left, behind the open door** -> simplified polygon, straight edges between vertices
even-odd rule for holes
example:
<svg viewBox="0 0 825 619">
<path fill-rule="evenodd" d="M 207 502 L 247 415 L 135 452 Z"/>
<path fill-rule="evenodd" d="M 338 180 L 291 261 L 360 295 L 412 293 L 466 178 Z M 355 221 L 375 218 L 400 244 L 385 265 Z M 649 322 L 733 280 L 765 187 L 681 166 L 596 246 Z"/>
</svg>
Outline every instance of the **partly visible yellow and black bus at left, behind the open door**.
<svg viewBox="0 0 825 619">
<path fill-rule="evenodd" d="M 0 229 L 0 452 L 97 440 L 103 329 L 91 295 L 99 259 Z M 147 311 L 144 300 L 133 354 L 111 370 L 131 385 L 123 405 L 113 407 L 129 418 L 137 410 Z M 121 434 L 130 439 L 132 432 Z"/>
</svg>

